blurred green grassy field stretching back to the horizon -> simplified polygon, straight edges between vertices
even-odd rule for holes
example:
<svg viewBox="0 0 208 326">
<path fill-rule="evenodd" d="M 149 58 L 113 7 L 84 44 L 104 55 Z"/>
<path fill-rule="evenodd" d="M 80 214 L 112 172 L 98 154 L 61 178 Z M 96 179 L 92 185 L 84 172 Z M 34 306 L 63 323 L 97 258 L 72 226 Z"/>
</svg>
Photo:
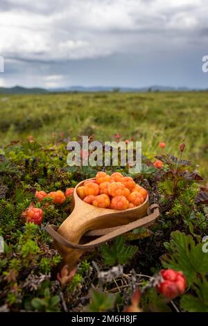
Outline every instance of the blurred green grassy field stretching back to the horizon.
<svg viewBox="0 0 208 326">
<path fill-rule="evenodd" d="M 177 155 L 187 146 L 187 158 L 208 172 L 208 97 L 206 92 L 74 93 L 0 96 L 0 144 L 32 135 L 47 142 L 53 132 L 66 136 L 95 135 L 109 141 L 114 133 L 122 139 L 143 142 L 143 151 Z"/>
</svg>

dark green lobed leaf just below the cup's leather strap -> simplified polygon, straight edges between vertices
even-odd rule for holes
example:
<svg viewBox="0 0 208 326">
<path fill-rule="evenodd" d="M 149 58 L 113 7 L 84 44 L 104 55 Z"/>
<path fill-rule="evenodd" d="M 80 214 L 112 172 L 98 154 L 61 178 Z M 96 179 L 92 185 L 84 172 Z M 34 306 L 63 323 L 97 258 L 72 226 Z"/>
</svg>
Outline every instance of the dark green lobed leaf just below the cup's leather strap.
<svg viewBox="0 0 208 326">
<path fill-rule="evenodd" d="M 105 265 L 108 266 L 127 264 L 137 250 L 137 246 L 126 246 L 123 237 L 117 237 L 112 246 L 108 244 L 101 245 L 101 255 L 103 256 Z"/>
</svg>

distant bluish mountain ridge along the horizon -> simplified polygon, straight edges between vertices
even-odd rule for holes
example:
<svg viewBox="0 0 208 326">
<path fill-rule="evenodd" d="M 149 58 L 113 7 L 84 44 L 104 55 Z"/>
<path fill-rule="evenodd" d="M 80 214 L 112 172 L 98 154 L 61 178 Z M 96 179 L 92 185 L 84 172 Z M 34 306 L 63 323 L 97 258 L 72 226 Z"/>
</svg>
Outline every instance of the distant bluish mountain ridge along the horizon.
<svg viewBox="0 0 208 326">
<path fill-rule="evenodd" d="M 0 94 L 44 94 L 51 92 L 189 92 L 193 90 L 205 90 L 205 89 L 191 89 L 189 87 L 171 87 L 153 85 L 149 87 L 113 87 L 113 86 L 71 86 L 44 89 L 41 87 L 27 88 L 23 86 L 15 87 L 0 87 Z"/>
</svg>

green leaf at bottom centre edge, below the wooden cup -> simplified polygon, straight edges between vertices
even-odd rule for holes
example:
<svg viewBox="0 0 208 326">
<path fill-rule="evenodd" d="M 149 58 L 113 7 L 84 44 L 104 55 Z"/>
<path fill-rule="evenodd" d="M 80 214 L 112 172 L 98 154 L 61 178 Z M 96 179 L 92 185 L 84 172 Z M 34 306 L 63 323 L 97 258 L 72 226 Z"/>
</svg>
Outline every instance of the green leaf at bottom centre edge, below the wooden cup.
<svg viewBox="0 0 208 326">
<path fill-rule="evenodd" d="M 87 312 L 102 312 L 113 309 L 116 300 L 116 295 L 113 293 L 103 293 L 98 289 L 89 291 L 89 304 L 85 307 Z"/>
</svg>

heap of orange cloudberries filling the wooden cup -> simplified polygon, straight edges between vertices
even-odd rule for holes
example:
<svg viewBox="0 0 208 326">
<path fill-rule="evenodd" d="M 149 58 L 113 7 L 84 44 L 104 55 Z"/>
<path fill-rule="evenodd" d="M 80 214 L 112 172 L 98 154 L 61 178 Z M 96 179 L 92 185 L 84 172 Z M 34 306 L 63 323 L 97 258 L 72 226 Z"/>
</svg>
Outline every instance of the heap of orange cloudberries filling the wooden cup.
<svg viewBox="0 0 208 326">
<path fill-rule="evenodd" d="M 119 172 L 112 175 L 98 172 L 95 179 L 87 180 L 78 187 L 77 194 L 87 204 L 119 210 L 139 206 L 148 196 L 146 189 Z"/>
</svg>

